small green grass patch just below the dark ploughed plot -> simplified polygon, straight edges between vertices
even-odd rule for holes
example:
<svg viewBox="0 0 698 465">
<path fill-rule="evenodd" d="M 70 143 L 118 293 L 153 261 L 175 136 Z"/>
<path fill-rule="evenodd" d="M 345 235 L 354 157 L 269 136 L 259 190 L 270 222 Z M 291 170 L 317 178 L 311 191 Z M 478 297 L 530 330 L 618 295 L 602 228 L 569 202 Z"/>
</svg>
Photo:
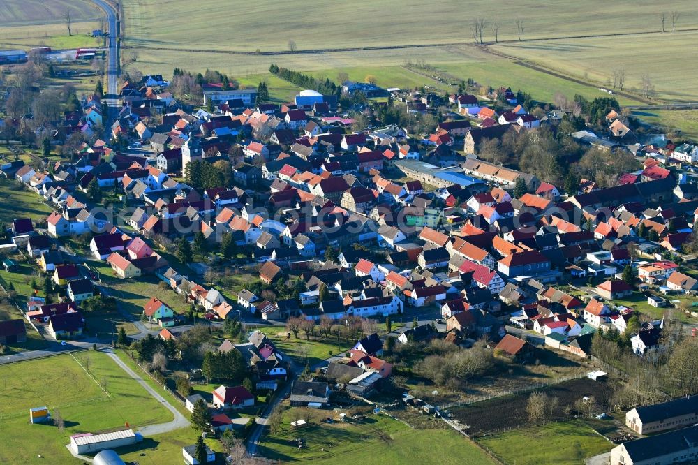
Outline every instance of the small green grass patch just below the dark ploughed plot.
<svg viewBox="0 0 698 465">
<path fill-rule="evenodd" d="M 614 445 L 579 421 L 556 422 L 477 439 L 507 463 L 581 464 Z"/>
</svg>

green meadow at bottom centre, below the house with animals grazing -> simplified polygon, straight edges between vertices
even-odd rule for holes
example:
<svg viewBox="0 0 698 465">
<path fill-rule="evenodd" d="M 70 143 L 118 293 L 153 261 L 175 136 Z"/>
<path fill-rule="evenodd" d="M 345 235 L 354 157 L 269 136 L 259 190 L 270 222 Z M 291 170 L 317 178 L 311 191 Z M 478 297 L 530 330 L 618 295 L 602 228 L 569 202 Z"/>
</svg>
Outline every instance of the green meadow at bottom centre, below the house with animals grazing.
<svg viewBox="0 0 698 465">
<path fill-rule="evenodd" d="M 293 429 L 290 422 L 300 418 L 334 417 L 332 411 L 290 408 L 285 412 L 281 431 L 265 436 L 260 453 L 273 461 L 312 461 L 319 464 L 489 464 L 493 461 L 477 445 L 450 429 L 410 429 L 386 415 L 368 415 L 354 423 L 331 425 L 317 420 L 302 429 Z M 306 447 L 299 449 L 292 441 L 302 438 Z M 324 449 L 324 450 L 322 450 Z M 434 457 L 435 450 L 439 457 Z"/>
</svg>

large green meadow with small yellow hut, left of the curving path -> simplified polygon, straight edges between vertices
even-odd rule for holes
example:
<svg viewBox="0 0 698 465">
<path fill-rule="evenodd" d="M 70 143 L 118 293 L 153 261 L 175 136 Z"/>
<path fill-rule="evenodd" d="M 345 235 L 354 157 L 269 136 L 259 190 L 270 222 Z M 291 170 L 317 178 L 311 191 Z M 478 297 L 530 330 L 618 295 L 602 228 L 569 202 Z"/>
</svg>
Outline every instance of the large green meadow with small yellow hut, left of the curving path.
<svg viewBox="0 0 698 465">
<path fill-rule="evenodd" d="M 91 376 L 84 369 L 88 357 Z M 75 358 L 82 367 L 70 354 L 0 367 L 0 432 L 6 444 L 22 444 L 0 448 L 0 462 L 47 463 L 40 454 L 51 457 L 51 463 L 79 463 L 65 448 L 72 434 L 115 429 L 126 422 L 138 428 L 172 420 L 172 413 L 107 355 L 90 351 L 75 353 Z M 59 412 L 65 429 L 31 425 L 29 408 L 40 406 L 48 406 L 54 418 Z"/>
</svg>

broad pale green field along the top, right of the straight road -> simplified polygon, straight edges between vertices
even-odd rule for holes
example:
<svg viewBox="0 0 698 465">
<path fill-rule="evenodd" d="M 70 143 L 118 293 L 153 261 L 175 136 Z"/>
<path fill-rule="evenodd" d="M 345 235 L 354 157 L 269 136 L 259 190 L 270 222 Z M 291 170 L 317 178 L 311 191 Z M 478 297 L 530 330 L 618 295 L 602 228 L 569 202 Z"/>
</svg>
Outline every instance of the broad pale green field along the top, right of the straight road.
<svg viewBox="0 0 698 465">
<path fill-rule="evenodd" d="M 571 0 L 545 4 L 523 0 L 517 8 L 498 11 L 495 18 L 487 0 L 468 1 L 467 7 L 455 0 L 440 0 L 429 3 L 429 8 L 419 0 L 260 0 L 235 15 L 230 15 L 230 4 L 223 0 L 212 0 L 207 8 L 185 0 L 125 0 L 123 4 L 128 45 L 248 52 L 288 51 L 289 40 L 295 42 L 297 50 L 470 42 L 468 18 L 477 16 L 498 20 L 499 40 L 517 38 L 517 18 L 526 24 L 526 39 L 637 32 L 638 24 L 644 25 L 642 30 L 656 31 L 660 28 L 658 17 L 653 22 L 646 18 L 664 10 L 664 6 L 649 0 L 633 2 L 630 10 L 630 2 L 626 1 L 609 4 L 592 0 L 582 6 Z M 680 27 L 695 23 L 697 15 L 692 6 L 689 0 L 672 2 L 673 9 L 683 12 Z M 168 14 L 163 15 L 163 10 Z M 182 17 L 190 20 L 183 24 Z M 349 17 L 355 18 L 350 31 L 346 23 Z M 435 29 L 433 24 L 437 22 L 439 27 Z M 211 40 L 211 30 L 218 31 L 216 40 Z M 262 30 L 274 34 L 254 34 Z M 493 39 L 488 28 L 485 40 Z"/>
</svg>

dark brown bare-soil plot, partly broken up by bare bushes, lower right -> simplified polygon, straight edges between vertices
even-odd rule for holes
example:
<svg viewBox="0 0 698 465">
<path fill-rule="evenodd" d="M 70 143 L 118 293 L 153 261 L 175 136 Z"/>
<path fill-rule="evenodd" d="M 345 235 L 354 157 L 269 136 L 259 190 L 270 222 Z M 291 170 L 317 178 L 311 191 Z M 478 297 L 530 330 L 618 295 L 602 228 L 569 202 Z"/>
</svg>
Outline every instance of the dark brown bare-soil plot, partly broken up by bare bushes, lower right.
<svg viewBox="0 0 698 465">
<path fill-rule="evenodd" d="M 565 406 L 574 409 L 574 403 L 584 396 L 593 396 L 598 405 L 606 405 L 611 396 L 611 386 L 598 383 L 588 378 L 578 378 L 565 383 L 559 383 L 544 392 L 549 397 L 557 397 L 559 408 L 546 415 L 547 420 L 569 420 Z M 485 431 L 495 431 L 507 427 L 517 427 L 528 424 L 526 401 L 530 392 L 498 397 L 489 401 L 477 402 L 463 407 L 452 408 L 454 419 L 463 425 L 468 425 L 468 434 L 477 436 Z"/>
</svg>

